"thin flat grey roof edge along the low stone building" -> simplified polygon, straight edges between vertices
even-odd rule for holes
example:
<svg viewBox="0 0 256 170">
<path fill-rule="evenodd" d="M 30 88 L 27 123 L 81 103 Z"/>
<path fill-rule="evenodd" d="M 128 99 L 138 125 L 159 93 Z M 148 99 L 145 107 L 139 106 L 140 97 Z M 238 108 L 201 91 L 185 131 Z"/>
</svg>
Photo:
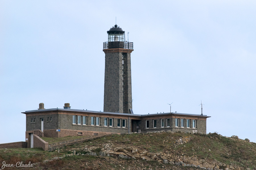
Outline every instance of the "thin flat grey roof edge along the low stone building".
<svg viewBox="0 0 256 170">
<path fill-rule="evenodd" d="M 159 115 L 200 116 L 200 117 L 205 117 L 205 118 L 211 117 L 211 116 L 207 116 L 207 115 L 202 116 L 201 114 L 186 114 L 186 113 L 127 114 L 127 113 L 87 111 L 87 110 L 79 110 L 79 109 L 40 109 L 40 110 L 25 111 L 25 112 L 21 112 L 21 113 L 27 114 L 27 113 L 36 113 L 36 112 L 49 112 L 49 111 L 85 112 L 85 113 L 96 113 L 96 114 L 114 114 L 114 115 L 123 115 L 123 116 L 131 116 L 131 117 L 159 116 Z"/>
</svg>

